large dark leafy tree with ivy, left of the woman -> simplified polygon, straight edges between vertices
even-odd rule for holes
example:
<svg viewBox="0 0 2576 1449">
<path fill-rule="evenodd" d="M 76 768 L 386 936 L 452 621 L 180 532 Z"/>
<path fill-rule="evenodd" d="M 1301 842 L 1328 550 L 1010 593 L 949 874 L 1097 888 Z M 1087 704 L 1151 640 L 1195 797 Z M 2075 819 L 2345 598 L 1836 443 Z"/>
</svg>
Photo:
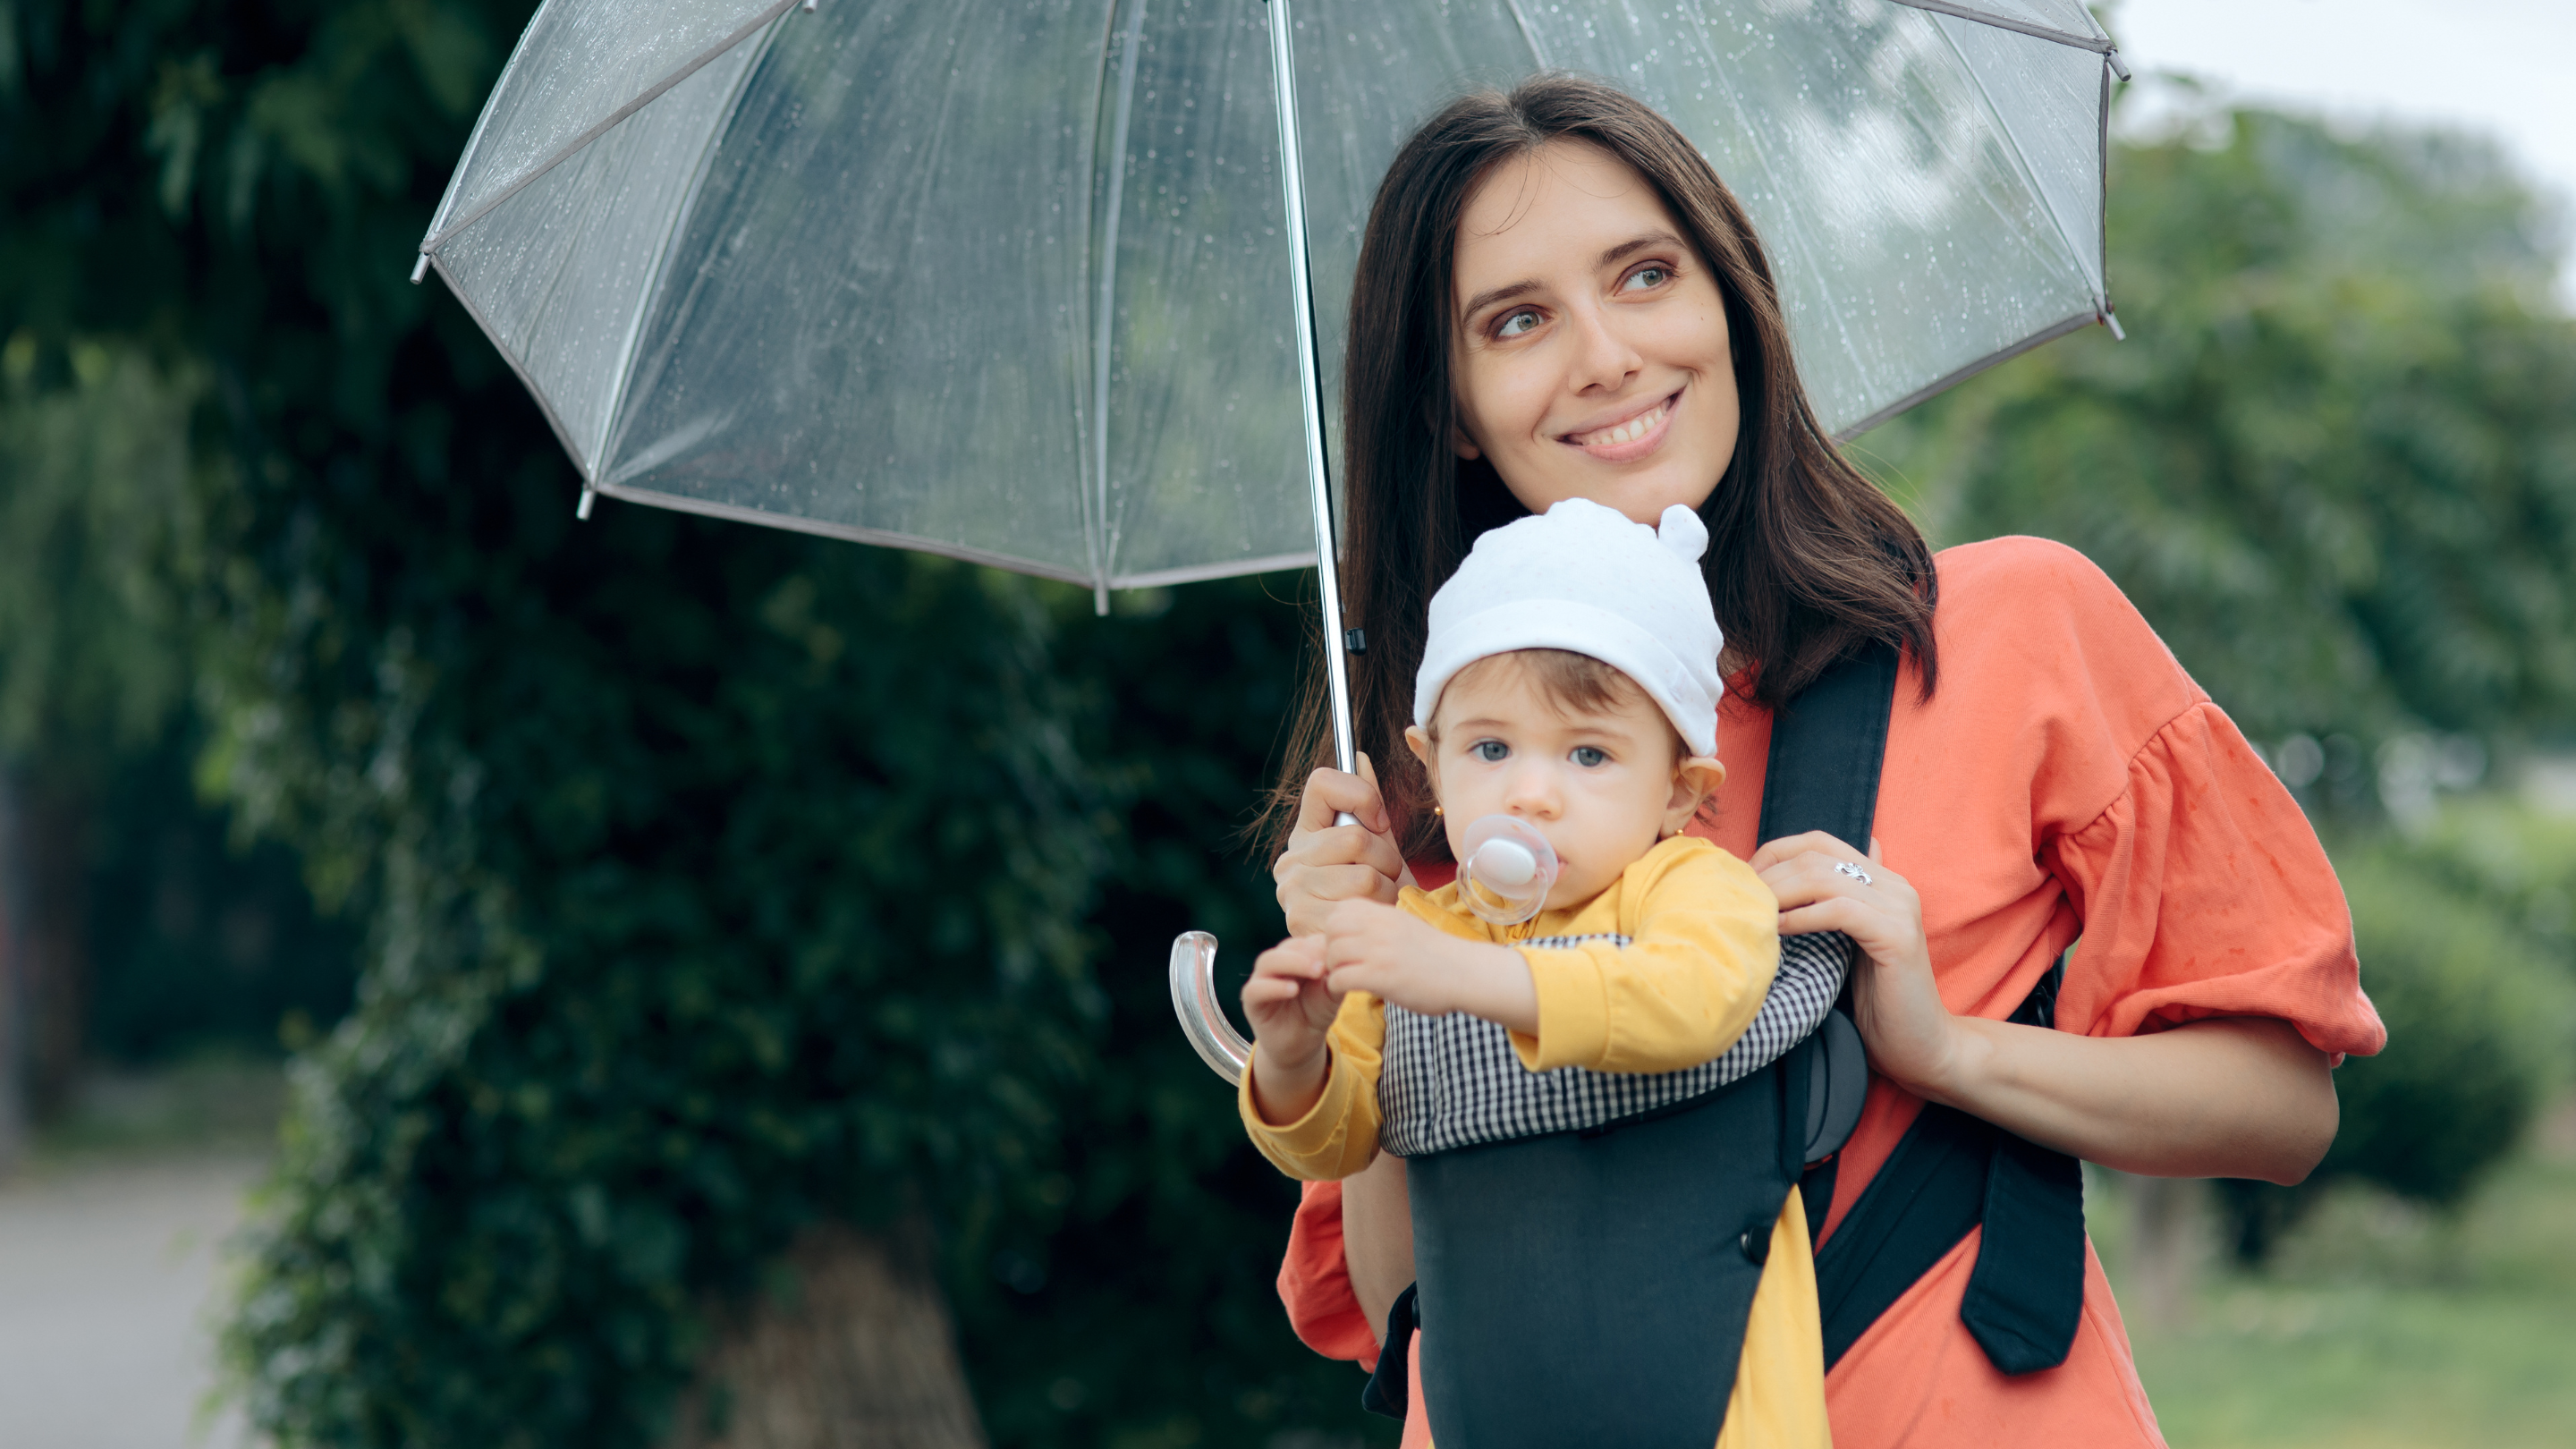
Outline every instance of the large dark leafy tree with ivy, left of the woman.
<svg viewBox="0 0 2576 1449">
<path fill-rule="evenodd" d="M 1224 848 L 1298 611 L 577 526 L 507 366 L 402 281 L 526 10 L 0 8 L 0 335 L 44 397 L 95 338 L 193 379 L 201 773 L 368 931 L 229 1336 L 255 1421 L 1373 1434 L 1162 1000 L 1175 928 L 1275 910 Z"/>
</svg>

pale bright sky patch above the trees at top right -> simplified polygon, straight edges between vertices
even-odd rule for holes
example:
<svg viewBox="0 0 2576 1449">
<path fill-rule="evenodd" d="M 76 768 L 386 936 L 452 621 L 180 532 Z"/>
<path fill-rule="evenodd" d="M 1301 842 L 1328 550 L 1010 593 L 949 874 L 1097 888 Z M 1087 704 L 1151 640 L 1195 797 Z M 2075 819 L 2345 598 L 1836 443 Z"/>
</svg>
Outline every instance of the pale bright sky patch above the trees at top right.
<svg viewBox="0 0 2576 1449">
<path fill-rule="evenodd" d="M 2561 201 L 2558 294 L 2576 307 L 2576 0 L 2117 0 L 2110 34 L 2141 80 L 2179 70 L 2267 106 L 2501 137 Z"/>
</svg>

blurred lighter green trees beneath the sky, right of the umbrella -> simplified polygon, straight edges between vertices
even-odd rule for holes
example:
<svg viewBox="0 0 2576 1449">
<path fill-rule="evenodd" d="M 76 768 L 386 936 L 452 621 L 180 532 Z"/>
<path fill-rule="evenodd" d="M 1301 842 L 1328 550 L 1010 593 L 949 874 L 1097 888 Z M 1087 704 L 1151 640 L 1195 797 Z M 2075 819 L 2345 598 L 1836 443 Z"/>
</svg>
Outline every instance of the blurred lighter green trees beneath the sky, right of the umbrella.
<svg viewBox="0 0 2576 1449">
<path fill-rule="evenodd" d="M 2110 206 L 2125 343 L 1865 441 L 1927 526 L 2084 549 L 2257 740 L 2563 730 L 2576 322 L 2540 204 L 2468 139 L 2246 111 L 2120 147 Z"/>
</svg>

